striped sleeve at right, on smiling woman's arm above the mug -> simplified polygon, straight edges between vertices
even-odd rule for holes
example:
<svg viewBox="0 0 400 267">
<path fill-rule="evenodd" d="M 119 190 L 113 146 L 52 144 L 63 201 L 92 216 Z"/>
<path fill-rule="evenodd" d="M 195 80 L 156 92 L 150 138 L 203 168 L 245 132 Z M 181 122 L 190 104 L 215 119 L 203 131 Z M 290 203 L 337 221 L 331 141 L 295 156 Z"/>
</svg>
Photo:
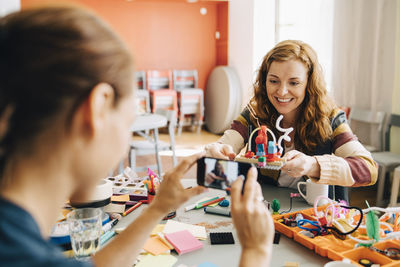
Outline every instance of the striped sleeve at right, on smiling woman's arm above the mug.
<svg viewBox="0 0 400 267">
<path fill-rule="evenodd" d="M 375 184 L 378 165 L 350 126 L 341 123 L 332 137 L 334 154 L 315 156 L 321 168 L 318 182 L 353 187 Z"/>
</svg>

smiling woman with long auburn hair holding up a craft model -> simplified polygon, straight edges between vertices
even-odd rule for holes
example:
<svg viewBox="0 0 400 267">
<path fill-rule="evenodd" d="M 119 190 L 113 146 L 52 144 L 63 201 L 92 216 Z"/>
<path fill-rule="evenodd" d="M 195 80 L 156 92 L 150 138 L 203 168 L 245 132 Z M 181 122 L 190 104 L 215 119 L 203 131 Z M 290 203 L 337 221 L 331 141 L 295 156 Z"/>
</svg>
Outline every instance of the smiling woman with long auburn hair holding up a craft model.
<svg viewBox="0 0 400 267">
<path fill-rule="evenodd" d="M 206 146 L 207 154 L 233 159 L 249 143 L 249 132 L 261 125 L 278 139 L 279 115 L 282 128 L 294 128 L 291 140 L 282 144 L 287 162 L 282 171 L 261 169 L 264 181 L 291 188 L 306 177 L 347 187 L 376 182 L 378 166 L 352 133 L 344 112 L 329 98 L 315 51 L 295 40 L 282 41 L 266 54 L 253 98 L 231 129 Z M 346 200 L 346 194 L 342 191 L 339 198 Z"/>
</svg>

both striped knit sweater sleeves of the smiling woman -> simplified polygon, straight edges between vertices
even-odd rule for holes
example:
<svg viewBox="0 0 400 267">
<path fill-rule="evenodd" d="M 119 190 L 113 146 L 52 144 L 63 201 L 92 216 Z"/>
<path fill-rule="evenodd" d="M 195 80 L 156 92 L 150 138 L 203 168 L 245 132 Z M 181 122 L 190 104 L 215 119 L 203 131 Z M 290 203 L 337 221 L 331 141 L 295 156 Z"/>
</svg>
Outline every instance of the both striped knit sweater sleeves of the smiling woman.
<svg viewBox="0 0 400 267">
<path fill-rule="evenodd" d="M 332 112 L 336 118 L 340 110 Z M 250 115 L 247 108 L 233 121 L 231 129 L 226 130 L 218 143 L 229 144 L 238 154 L 249 138 Z M 254 125 L 253 125 L 254 127 Z M 253 128 L 255 129 L 255 128 Z M 378 176 L 378 165 L 371 153 L 358 141 L 345 119 L 339 120 L 332 134 L 331 154 L 315 155 L 321 172 L 319 178 L 310 177 L 314 182 L 341 186 L 367 186 L 375 184 Z M 278 178 L 280 172 L 275 175 Z"/>
</svg>

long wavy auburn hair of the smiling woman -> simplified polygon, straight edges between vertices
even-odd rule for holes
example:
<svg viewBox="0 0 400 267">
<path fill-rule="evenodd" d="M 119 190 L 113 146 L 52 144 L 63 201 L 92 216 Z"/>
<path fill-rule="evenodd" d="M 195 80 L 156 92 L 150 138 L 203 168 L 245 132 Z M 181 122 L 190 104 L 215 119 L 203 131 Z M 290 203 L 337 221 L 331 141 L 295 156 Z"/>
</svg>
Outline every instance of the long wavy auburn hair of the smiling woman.
<svg viewBox="0 0 400 267">
<path fill-rule="evenodd" d="M 267 74 L 272 62 L 288 60 L 300 60 L 308 68 L 306 95 L 293 127 L 296 149 L 311 154 L 317 145 L 331 138 L 330 116 L 336 107 L 327 95 L 322 68 L 311 46 L 297 40 L 286 40 L 269 51 L 258 71 L 257 80 L 254 83 L 254 96 L 249 104 L 255 110 L 260 122 L 277 133 L 275 121 L 280 114 L 267 96 Z"/>
</svg>

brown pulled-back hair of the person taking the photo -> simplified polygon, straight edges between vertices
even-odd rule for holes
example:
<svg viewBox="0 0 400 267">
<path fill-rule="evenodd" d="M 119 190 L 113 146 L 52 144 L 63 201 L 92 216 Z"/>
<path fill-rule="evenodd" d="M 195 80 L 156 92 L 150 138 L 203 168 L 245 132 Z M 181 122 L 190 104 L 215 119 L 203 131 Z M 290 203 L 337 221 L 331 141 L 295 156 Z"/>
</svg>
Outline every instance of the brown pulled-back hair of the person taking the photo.
<svg viewBox="0 0 400 267">
<path fill-rule="evenodd" d="M 43 7 L 0 18 L 0 181 L 13 156 L 75 110 L 93 87 L 132 92 L 127 48 L 96 15 L 77 7 Z"/>
</svg>

